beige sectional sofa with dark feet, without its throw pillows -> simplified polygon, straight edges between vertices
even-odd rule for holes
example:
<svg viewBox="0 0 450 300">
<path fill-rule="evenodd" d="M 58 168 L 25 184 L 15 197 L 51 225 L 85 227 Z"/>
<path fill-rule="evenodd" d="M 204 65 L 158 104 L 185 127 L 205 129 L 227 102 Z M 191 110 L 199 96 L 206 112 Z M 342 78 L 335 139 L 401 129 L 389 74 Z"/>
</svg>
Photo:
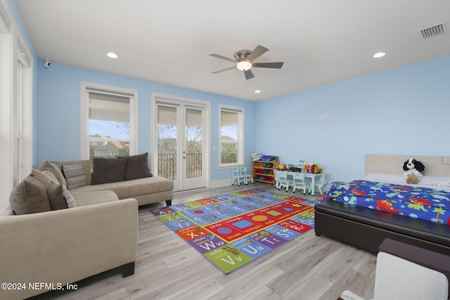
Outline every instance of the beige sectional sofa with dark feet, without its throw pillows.
<svg viewBox="0 0 450 300">
<path fill-rule="evenodd" d="M 69 190 L 76 207 L 44 211 L 31 203 L 25 209 L 34 211 L 16 215 L 13 207 L 16 211 L 24 207 L 11 204 L 0 211 L 0 282 L 6 282 L 0 299 L 25 299 L 65 289 L 117 267 L 124 277 L 134 274 L 138 205 L 162 201 L 169 205 L 172 200 L 173 182 L 158 176 L 91 185 L 89 160 L 44 162 L 41 173 L 33 170 L 23 183 L 37 181 L 46 172 L 53 174 L 60 188 L 68 186 L 63 166 L 71 164 L 82 164 L 86 176 L 86 185 Z M 53 202 L 49 203 L 53 209 Z"/>
</svg>

